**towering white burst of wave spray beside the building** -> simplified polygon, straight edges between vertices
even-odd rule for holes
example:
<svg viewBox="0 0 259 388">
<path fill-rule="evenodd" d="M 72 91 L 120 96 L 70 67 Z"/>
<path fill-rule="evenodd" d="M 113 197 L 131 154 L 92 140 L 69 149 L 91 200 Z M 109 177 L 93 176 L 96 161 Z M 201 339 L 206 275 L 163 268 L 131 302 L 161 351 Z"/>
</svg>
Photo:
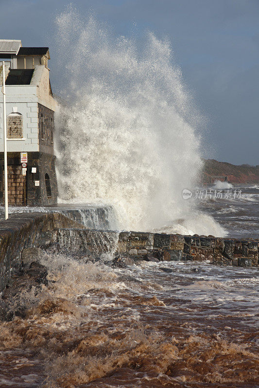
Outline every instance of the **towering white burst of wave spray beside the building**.
<svg viewBox="0 0 259 388">
<path fill-rule="evenodd" d="M 202 166 L 204 124 L 171 44 L 148 32 L 139 49 L 72 6 L 56 23 L 67 100 L 55 118 L 61 201 L 112 205 L 121 229 L 175 225 L 222 236 L 182 198 Z M 179 218 L 185 222 L 177 227 Z"/>
</svg>

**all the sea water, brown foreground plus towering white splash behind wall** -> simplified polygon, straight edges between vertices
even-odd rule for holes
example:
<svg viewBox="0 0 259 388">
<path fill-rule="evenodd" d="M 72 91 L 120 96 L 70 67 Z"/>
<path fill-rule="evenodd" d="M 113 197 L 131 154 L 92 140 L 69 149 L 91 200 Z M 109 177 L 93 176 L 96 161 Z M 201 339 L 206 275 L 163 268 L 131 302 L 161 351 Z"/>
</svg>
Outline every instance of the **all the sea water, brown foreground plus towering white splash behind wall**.
<svg viewBox="0 0 259 388">
<path fill-rule="evenodd" d="M 72 8 L 57 22 L 64 100 L 70 90 L 56 116 L 60 202 L 106 201 L 118 229 L 255 237 L 257 186 L 182 197 L 197 188 L 201 121 L 169 43 L 148 34 L 139 55 Z M 2 293 L 0 387 L 259 387 L 258 268 L 113 268 L 115 250 L 42 253 L 47 282 Z"/>
</svg>

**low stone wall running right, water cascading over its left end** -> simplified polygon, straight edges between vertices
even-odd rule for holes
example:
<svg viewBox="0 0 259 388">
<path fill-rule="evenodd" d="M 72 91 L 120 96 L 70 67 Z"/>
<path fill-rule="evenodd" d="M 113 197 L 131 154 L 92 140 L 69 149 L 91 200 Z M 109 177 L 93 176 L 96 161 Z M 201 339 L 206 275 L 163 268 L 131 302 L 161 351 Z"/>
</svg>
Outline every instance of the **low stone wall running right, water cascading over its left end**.
<svg viewBox="0 0 259 388">
<path fill-rule="evenodd" d="M 259 240 L 237 240 L 213 236 L 182 236 L 141 232 L 111 232 L 87 229 L 53 230 L 52 242 L 69 250 L 94 254 L 112 251 L 139 259 L 210 260 L 213 264 L 240 267 L 259 266 Z M 116 244 L 115 244 L 116 242 Z"/>
</svg>

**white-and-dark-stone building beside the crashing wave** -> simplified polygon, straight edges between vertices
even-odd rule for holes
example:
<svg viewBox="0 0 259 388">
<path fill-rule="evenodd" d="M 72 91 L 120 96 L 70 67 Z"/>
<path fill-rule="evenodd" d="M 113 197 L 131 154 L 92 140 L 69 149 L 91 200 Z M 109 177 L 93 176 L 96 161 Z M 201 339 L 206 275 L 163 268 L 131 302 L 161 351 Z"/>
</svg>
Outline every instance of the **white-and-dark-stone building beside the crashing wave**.
<svg viewBox="0 0 259 388">
<path fill-rule="evenodd" d="M 5 61 L 8 156 L 8 202 L 11 205 L 56 203 L 53 150 L 55 100 L 47 47 L 22 47 L 19 40 L 0 40 L 0 86 Z M 26 176 L 20 152 L 28 153 Z M 0 97 L 0 202 L 3 202 L 3 103 Z M 32 170 L 32 167 L 34 169 Z M 32 171 L 35 171 L 33 173 Z"/>
</svg>

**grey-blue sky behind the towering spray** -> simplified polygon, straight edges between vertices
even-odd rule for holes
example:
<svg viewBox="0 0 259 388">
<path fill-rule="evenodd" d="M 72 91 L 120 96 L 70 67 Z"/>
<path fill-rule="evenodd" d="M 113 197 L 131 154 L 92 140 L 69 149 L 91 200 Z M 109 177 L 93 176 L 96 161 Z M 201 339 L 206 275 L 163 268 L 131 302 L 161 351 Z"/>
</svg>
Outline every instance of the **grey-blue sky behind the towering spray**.
<svg viewBox="0 0 259 388">
<path fill-rule="evenodd" d="M 52 89 L 60 78 L 53 46 L 54 18 L 70 1 L 0 0 L 0 38 L 48 46 Z M 259 0 L 73 0 L 115 34 L 152 31 L 171 41 L 176 63 L 206 117 L 203 156 L 258 165 Z M 136 36 L 135 36 L 136 37 Z M 138 38 L 138 37 L 137 37 Z"/>
</svg>

